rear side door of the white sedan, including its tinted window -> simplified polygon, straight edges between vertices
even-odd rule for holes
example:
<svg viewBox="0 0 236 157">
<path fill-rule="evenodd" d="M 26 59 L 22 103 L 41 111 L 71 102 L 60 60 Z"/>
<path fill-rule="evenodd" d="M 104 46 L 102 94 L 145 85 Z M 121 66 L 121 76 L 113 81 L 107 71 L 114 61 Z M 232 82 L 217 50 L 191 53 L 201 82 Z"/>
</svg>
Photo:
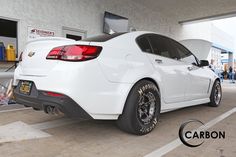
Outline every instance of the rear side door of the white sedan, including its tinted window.
<svg viewBox="0 0 236 157">
<path fill-rule="evenodd" d="M 164 85 L 162 96 L 165 103 L 184 101 L 189 82 L 185 64 L 177 61 L 178 54 L 168 38 L 159 35 L 150 35 L 147 38 L 153 53 L 147 55 L 156 69 L 156 74 L 162 79 Z"/>
</svg>

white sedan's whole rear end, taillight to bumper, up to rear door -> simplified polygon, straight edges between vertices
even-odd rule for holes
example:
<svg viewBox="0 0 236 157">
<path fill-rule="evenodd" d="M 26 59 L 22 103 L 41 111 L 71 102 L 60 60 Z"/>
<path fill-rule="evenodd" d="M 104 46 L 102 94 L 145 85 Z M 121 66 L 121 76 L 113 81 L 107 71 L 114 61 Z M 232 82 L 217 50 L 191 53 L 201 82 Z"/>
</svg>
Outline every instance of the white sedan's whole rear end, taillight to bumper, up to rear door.
<svg viewBox="0 0 236 157">
<path fill-rule="evenodd" d="M 15 70 L 16 101 L 46 113 L 118 119 L 134 83 L 150 73 L 147 58 L 137 53 L 140 34 L 28 43 Z"/>
</svg>

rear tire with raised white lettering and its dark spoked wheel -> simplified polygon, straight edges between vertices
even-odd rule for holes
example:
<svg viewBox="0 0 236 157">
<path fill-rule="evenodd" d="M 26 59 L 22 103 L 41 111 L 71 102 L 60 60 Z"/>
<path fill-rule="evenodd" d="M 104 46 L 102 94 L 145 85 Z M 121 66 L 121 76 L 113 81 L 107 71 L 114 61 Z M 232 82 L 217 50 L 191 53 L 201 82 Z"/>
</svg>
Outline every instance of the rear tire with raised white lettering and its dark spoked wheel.
<svg viewBox="0 0 236 157">
<path fill-rule="evenodd" d="M 117 125 L 125 132 L 145 135 L 155 128 L 159 116 L 159 90 L 151 81 L 142 80 L 131 89 Z"/>
</svg>

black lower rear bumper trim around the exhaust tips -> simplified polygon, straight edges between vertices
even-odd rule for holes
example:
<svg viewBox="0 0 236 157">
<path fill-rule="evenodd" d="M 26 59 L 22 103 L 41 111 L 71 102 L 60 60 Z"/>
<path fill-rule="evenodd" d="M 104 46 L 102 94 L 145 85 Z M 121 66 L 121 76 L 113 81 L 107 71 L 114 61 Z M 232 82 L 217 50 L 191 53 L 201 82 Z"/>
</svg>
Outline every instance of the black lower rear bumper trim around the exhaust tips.
<svg viewBox="0 0 236 157">
<path fill-rule="evenodd" d="M 21 105 L 44 110 L 46 106 L 58 108 L 68 117 L 93 119 L 83 108 L 81 108 L 73 99 L 63 95 L 61 97 L 52 97 L 45 94 L 45 91 L 37 90 L 33 84 L 30 95 L 21 94 L 19 85 L 14 88 L 16 102 Z"/>
</svg>

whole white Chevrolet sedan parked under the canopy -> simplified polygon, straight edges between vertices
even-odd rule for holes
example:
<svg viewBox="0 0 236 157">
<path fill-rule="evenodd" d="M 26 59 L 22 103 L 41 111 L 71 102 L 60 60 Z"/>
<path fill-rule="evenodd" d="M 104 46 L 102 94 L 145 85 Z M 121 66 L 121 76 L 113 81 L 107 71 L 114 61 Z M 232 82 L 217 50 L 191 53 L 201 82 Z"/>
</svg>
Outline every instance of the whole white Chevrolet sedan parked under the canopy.
<svg viewBox="0 0 236 157">
<path fill-rule="evenodd" d="M 15 70 L 19 104 L 71 117 L 117 120 L 144 135 L 162 112 L 219 106 L 220 80 L 187 48 L 152 32 L 116 33 L 74 41 L 40 38 L 27 44 Z"/>
</svg>

